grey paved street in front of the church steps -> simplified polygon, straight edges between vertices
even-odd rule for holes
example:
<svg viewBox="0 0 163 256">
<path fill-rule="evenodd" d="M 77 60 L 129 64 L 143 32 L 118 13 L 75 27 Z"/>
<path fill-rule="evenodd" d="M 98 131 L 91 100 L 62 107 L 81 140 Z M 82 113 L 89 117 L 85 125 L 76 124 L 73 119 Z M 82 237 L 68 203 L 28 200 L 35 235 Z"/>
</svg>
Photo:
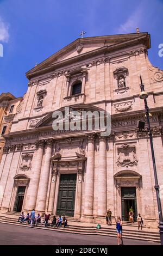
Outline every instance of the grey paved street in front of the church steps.
<svg viewBox="0 0 163 256">
<path fill-rule="evenodd" d="M 115 237 L 78 235 L 0 223 L 0 245 L 117 245 Z M 159 243 L 124 239 L 124 245 Z"/>
</svg>

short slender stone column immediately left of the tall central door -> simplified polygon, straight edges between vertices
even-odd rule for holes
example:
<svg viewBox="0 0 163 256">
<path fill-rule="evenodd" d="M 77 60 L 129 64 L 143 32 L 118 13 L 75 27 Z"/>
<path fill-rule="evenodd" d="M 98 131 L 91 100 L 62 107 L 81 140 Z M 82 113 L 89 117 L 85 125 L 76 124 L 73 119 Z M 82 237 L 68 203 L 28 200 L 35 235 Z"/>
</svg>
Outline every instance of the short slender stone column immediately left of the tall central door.
<svg viewBox="0 0 163 256">
<path fill-rule="evenodd" d="M 52 179 L 51 179 L 51 190 L 50 190 L 50 196 L 49 196 L 49 205 L 48 205 L 49 214 L 54 214 L 53 208 L 54 208 L 55 186 L 57 181 L 57 174 L 58 174 L 57 168 L 53 168 Z"/>
</svg>

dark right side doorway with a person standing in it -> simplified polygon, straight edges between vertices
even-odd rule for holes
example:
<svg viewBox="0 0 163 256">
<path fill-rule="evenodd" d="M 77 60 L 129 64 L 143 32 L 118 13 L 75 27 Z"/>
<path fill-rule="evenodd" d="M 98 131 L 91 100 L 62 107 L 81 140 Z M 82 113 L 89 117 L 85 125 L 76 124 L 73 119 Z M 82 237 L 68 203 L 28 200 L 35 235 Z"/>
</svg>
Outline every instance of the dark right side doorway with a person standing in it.
<svg viewBox="0 0 163 256">
<path fill-rule="evenodd" d="M 129 209 L 134 211 L 134 221 L 137 218 L 136 187 L 122 187 L 122 221 L 129 221 Z"/>
</svg>

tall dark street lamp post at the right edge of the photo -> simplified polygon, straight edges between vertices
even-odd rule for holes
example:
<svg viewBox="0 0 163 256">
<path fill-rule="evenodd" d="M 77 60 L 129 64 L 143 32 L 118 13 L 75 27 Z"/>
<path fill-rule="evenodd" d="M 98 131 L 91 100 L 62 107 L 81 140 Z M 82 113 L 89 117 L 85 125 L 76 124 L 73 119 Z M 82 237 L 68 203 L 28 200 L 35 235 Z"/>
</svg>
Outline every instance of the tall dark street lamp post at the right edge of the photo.
<svg viewBox="0 0 163 256">
<path fill-rule="evenodd" d="M 151 153 L 152 153 L 152 162 L 153 162 L 153 170 L 154 170 L 154 180 L 155 180 L 155 191 L 156 191 L 156 199 L 158 203 L 158 212 L 159 212 L 159 232 L 160 232 L 160 240 L 161 240 L 161 245 L 163 245 L 163 220 L 162 220 L 162 209 L 161 209 L 161 200 L 159 196 L 159 184 L 158 184 L 158 176 L 156 172 L 156 164 L 155 164 L 155 156 L 154 156 L 154 149 L 153 149 L 153 139 L 152 139 L 152 132 L 151 132 L 151 125 L 149 122 L 149 108 L 147 104 L 147 97 L 148 93 L 145 92 L 145 86 L 142 83 L 142 78 L 140 76 L 140 81 L 141 81 L 141 93 L 140 93 L 140 99 L 144 100 L 145 102 L 145 109 L 146 109 L 146 118 L 147 118 L 147 124 L 148 124 L 148 135 L 149 135 L 149 141 L 151 144 Z"/>
</svg>

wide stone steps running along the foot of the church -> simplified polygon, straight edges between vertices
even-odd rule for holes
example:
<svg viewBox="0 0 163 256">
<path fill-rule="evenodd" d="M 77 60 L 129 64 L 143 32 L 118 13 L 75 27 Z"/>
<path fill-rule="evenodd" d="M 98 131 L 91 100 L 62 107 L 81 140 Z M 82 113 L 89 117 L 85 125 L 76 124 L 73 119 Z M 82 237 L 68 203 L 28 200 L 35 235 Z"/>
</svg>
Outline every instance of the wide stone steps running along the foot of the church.
<svg viewBox="0 0 163 256">
<path fill-rule="evenodd" d="M 6 223 L 6 224 L 12 224 L 12 225 L 20 225 L 23 227 L 30 227 L 30 224 L 26 223 L 17 223 L 17 218 L 11 218 L 11 217 L 0 217 L 0 223 Z M 69 223 L 69 221 L 68 221 Z M 54 227 L 48 227 L 45 228 L 43 225 L 38 225 L 36 228 L 38 229 L 46 229 L 46 230 L 53 230 L 53 231 L 59 231 L 59 232 L 66 232 L 66 233 L 73 233 L 73 234 L 85 234 L 85 235 L 103 235 L 103 236 L 111 236 L 116 237 L 116 230 L 115 227 L 110 228 L 108 227 L 102 227 L 101 229 L 96 229 L 96 226 L 85 226 L 85 223 L 83 225 L 77 225 L 76 223 L 69 224 L 68 227 L 64 228 L 54 228 Z M 135 239 L 135 240 L 142 240 L 142 241 L 152 241 L 152 242 L 160 242 L 160 235 L 158 232 L 152 232 L 152 231 L 139 231 L 139 230 L 129 230 L 127 228 L 123 229 L 123 237 L 126 239 Z"/>
</svg>

